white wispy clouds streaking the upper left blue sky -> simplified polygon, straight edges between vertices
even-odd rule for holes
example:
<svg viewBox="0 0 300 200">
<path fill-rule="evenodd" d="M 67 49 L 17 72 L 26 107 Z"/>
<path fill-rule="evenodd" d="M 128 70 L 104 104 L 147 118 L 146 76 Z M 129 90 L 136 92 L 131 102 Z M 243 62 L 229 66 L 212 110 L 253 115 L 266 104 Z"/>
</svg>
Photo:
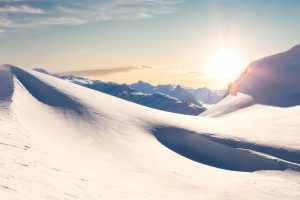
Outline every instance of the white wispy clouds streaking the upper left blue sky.
<svg viewBox="0 0 300 200">
<path fill-rule="evenodd" d="M 0 0 L 0 30 L 139 20 L 175 12 L 184 0 Z"/>
</svg>

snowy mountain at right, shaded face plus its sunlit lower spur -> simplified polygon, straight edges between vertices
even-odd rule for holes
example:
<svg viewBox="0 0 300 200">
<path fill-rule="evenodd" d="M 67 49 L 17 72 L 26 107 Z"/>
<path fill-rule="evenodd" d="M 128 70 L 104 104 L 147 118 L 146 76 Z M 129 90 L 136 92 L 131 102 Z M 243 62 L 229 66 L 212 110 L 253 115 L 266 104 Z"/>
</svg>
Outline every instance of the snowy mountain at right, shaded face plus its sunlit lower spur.
<svg viewBox="0 0 300 200">
<path fill-rule="evenodd" d="M 230 84 L 228 94 L 202 116 L 219 116 L 254 104 L 300 105 L 300 45 L 256 60 Z"/>
</svg>

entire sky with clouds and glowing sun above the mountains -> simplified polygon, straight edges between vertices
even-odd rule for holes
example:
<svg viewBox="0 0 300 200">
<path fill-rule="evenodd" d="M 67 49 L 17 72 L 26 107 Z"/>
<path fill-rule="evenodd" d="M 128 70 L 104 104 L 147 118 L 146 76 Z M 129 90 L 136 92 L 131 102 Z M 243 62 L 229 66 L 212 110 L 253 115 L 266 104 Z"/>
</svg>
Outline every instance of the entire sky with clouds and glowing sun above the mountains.
<svg viewBox="0 0 300 200">
<path fill-rule="evenodd" d="M 221 89 L 299 21 L 298 0 L 0 0 L 0 63 Z"/>
</svg>

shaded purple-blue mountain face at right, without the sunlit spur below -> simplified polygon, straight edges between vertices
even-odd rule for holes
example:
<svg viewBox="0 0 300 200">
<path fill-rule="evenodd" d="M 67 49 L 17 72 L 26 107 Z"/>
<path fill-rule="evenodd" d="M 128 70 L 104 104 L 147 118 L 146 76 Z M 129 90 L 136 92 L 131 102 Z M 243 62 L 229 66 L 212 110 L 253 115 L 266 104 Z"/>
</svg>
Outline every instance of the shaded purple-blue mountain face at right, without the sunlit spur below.
<svg viewBox="0 0 300 200">
<path fill-rule="evenodd" d="M 300 105 L 300 45 L 289 51 L 252 62 L 229 88 L 257 103 L 290 107 Z"/>
</svg>

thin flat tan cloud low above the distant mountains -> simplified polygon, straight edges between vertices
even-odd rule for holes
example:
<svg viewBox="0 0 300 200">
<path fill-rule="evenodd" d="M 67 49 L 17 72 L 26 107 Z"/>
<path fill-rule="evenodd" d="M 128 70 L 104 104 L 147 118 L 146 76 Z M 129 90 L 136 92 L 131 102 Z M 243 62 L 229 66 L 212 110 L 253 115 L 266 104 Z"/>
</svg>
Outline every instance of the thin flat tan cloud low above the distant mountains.
<svg viewBox="0 0 300 200">
<path fill-rule="evenodd" d="M 126 73 L 132 72 L 136 70 L 143 70 L 143 69 L 152 69 L 150 66 L 122 66 L 122 67 L 114 67 L 109 69 L 94 69 L 94 70 L 82 70 L 82 71 L 70 71 L 61 73 L 62 75 L 77 75 L 77 76 L 105 76 L 110 74 L 116 73 Z"/>
</svg>

